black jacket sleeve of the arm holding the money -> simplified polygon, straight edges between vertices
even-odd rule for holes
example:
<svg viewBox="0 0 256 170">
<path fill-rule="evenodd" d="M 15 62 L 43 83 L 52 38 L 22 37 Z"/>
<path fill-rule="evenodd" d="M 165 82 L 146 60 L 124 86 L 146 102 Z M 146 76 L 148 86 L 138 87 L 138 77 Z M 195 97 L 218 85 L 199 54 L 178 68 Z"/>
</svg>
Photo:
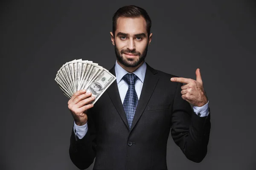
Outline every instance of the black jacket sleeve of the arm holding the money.
<svg viewBox="0 0 256 170">
<path fill-rule="evenodd" d="M 96 156 L 96 128 L 91 114 L 93 113 L 89 109 L 87 113 L 88 130 L 85 136 L 79 139 L 72 128 L 70 137 L 70 159 L 80 170 L 90 167 Z"/>
</svg>

